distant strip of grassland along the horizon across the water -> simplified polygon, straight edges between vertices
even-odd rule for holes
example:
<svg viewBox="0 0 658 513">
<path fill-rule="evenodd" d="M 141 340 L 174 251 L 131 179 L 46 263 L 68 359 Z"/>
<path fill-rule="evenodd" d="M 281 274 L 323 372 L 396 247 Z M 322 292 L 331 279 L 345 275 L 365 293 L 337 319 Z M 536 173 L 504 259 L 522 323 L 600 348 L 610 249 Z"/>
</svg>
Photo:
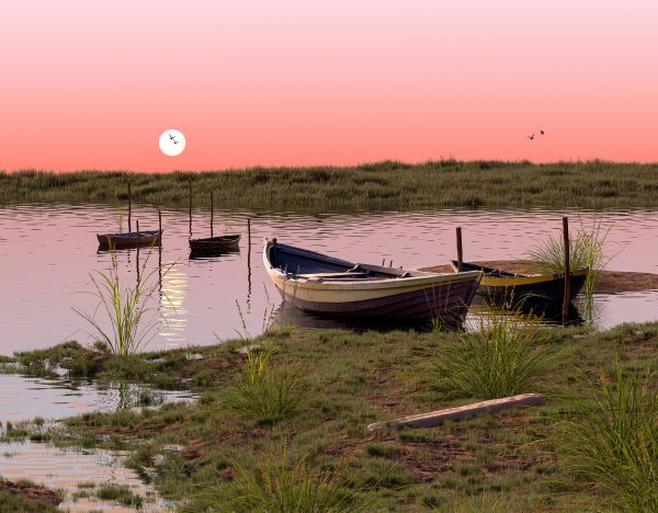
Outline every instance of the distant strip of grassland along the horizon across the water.
<svg viewBox="0 0 658 513">
<path fill-rule="evenodd" d="M 251 168 L 217 172 L 0 172 L 0 204 L 133 201 L 274 210 L 658 207 L 658 163 L 441 160 L 349 168 Z"/>
</svg>

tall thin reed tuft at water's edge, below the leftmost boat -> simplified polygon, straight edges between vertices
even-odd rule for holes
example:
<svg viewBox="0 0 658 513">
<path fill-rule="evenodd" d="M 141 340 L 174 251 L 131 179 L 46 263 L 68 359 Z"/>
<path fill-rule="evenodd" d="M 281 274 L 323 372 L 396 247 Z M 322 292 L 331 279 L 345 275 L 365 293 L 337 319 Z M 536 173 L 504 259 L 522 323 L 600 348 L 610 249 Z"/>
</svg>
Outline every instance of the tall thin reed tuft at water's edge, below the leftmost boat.
<svg viewBox="0 0 658 513">
<path fill-rule="evenodd" d="M 135 284 L 126 283 L 120 273 L 116 252 L 111 251 L 112 263 L 109 272 L 97 271 L 90 274 L 91 294 L 98 299 L 93 312 L 84 312 L 73 308 L 82 319 L 89 322 L 95 339 L 117 355 L 133 355 L 147 345 L 156 337 L 160 322 L 154 317 L 154 309 L 149 308 L 149 299 L 158 292 L 156 276 L 158 267 L 145 274 L 148 256 L 141 264 L 141 278 Z M 173 264 L 163 266 L 166 274 Z M 163 296 L 168 299 L 167 296 Z M 104 328 L 97 319 L 99 311 L 104 312 L 105 321 L 110 328 Z"/>
</svg>

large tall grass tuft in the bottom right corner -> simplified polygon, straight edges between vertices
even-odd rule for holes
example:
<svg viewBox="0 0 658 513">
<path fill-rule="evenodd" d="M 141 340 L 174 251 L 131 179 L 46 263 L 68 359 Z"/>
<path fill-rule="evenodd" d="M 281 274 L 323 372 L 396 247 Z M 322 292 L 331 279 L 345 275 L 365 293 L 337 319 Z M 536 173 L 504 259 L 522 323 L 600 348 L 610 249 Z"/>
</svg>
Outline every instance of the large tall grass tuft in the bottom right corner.
<svg viewBox="0 0 658 513">
<path fill-rule="evenodd" d="M 658 392 L 649 373 L 589 381 L 558 433 L 572 468 L 620 511 L 658 511 Z"/>
</svg>

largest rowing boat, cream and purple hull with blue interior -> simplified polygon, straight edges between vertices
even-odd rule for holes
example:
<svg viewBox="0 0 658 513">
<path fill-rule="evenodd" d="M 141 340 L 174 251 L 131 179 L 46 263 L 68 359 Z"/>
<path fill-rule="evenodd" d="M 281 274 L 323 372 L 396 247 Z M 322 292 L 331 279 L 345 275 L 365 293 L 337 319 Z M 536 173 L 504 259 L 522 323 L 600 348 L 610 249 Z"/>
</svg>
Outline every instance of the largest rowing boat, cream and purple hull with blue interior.
<svg viewBox="0 0 658 513">
<path fill-rule="evenodd" d="M 429 273 L 355 264 L 265 239 L 265 271 L 284 299 L 321 315 L 462 321 L 481 272 Z"/>
</svg>

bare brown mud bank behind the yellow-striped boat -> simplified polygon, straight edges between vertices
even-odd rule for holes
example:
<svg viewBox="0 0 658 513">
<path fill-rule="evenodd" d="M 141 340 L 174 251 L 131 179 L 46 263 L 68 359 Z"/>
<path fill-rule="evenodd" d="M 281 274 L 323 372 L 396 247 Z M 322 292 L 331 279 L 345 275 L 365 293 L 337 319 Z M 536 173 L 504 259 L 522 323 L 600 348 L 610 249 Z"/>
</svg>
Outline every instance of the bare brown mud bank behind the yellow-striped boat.
<svg viewBox="0 0 658 513">
<path fill-rule="evenodd" d="M 537 266 L 530 260 L 488 260 L 474 262 L 512 273 L 536 273 Z M 421 267 L 420 271 L 452 272 L 450 264 Z M 658 290 L 658 274 L 626 271 L 601 271 L 594 283 L 594 294 L 621 294 L 640 290 Z"/>
</svg>

